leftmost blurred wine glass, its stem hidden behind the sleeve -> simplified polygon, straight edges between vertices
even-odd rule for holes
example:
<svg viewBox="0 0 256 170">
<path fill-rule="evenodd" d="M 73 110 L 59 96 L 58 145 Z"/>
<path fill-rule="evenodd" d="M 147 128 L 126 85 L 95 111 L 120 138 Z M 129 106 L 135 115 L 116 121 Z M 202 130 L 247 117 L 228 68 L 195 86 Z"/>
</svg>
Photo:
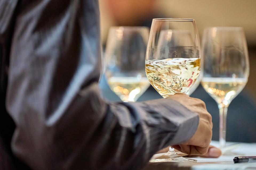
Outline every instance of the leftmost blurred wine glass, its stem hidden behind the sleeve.
<svg viewBox="0 0 256 170">
<path fill-rule="evenodd" d="M 124 102 L 136 101 L 150 86 L 145 74 L 147 27 L 111 27 L 106 44 L 106 78 Z"/>
</svg>

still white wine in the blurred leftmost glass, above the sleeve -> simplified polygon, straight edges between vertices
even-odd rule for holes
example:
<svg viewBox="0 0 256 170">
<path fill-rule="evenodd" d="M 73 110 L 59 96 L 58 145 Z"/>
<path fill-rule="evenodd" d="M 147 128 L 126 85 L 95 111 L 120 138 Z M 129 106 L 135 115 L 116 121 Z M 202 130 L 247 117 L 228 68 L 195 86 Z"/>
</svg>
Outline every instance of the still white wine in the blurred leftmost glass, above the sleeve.
<svg viewBox="0 0 256 170">
<path fill-rule="evenodd" d="M 136 101 L 150 86 L 146 77 L 110 77 L 108 84 L 121 100 Z"/>
</svg>

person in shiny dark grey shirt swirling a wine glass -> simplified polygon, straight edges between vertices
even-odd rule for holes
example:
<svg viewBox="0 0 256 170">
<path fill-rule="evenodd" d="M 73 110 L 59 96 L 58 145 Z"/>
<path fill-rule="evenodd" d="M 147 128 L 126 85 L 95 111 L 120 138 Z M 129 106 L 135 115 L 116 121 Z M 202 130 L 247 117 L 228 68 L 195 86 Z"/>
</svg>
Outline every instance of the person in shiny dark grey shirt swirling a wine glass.
<svg viewBox="0 0 256 170">
<path fill-rule="evenodd" d="M 25 169 L 140 169 L 172 145 L 207 154 L 211 116 L 185 94 L 101 99 L 97 0 L 1 0 L 1 140 Z"/>
</svg>

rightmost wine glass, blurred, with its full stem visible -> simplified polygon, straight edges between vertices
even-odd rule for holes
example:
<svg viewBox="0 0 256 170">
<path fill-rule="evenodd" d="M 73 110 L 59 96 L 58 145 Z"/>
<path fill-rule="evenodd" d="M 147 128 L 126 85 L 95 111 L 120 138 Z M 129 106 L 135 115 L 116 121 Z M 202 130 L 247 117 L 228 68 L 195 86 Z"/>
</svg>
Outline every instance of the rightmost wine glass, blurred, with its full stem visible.
<svg viewBox="0 0 256 170">
<path fill-rule="evenodd" d="M 202 40 L 202 86 L 219 107 L 219 145 L 226 144 L 226 117 L 230 102 L 243 90 L 249 76 L 248 50 L 243 28 L 212 27 Z"/>
</svg>

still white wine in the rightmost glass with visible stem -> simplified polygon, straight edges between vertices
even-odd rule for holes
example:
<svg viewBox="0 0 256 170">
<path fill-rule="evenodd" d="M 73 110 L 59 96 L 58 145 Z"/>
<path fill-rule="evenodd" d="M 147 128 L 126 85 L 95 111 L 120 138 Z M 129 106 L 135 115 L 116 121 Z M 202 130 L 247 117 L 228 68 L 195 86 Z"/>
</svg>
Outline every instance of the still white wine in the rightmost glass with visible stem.
<svg viewBox="0 0 256 170">
<path fill-rule="evenodd" d="M 239 94 L 245 84 L 246 78 L 211 78 L 206 77 L 202 80 L 205 91 L 213 97 L 217 103 L 227 101 L 228 104 Z"/>
</svg>

